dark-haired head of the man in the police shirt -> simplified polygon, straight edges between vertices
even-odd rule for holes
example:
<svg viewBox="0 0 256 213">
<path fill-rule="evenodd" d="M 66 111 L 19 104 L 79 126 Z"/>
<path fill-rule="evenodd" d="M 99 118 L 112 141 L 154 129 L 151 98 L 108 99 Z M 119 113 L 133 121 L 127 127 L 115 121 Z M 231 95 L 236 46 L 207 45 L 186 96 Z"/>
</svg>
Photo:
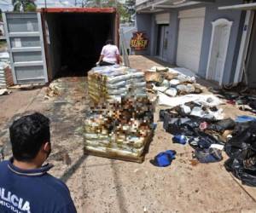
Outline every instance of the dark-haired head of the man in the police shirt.
<svg viewBox="0 0 256 213">
<path fill-rule="evenodd" d="M 51 151 L 49 118 L 38 112 L 23 116 L 10 126 L 9 136 L 15 160 L 43 164 Z"/>
</svg>

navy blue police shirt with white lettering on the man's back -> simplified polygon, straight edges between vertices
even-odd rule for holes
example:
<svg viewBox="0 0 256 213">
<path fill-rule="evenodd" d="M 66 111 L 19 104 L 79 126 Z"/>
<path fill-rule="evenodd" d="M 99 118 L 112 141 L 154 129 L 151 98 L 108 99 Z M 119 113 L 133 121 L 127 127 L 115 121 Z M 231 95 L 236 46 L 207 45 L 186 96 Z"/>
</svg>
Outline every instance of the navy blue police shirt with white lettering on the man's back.
<svg viewBox="0 0 256 213">
<path fill-rule="evenodd" d="M 77 212 L 67 186 L 47 173 L 51 167 L 20 170 L 12 159 L 0 163 L 0 212 Z"/>
</svg>

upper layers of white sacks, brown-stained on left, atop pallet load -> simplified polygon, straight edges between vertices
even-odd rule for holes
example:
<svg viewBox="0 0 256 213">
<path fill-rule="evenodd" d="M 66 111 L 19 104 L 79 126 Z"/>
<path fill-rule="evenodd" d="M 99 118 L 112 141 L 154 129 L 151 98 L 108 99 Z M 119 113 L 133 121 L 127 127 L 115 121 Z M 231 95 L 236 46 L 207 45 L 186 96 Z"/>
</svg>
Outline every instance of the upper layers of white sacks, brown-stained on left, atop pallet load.
<svg viewBox="0 0 256 213">
<path fill-rule="evenodd" d="M 125 66 L 95 67 L 88 73 L 90 101 L 98 104 L 120 101 L 126 95 L 145 97 L 143 72 Z"/>
</svg>

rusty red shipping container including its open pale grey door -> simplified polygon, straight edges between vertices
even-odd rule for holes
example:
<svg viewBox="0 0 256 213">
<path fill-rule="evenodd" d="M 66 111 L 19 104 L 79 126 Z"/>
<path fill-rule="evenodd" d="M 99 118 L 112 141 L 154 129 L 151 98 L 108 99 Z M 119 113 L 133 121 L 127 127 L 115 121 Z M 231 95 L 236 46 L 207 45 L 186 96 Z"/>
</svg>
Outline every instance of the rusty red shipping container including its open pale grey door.
<svg viewBox="0 0 256 213">
<path fill-rule="evenodd" d="M 15 84 L 86 75 L 108 39 L 119 45 L 119 15 L 113 8 L 7 12 L 3 21 Z"/>
</svg>

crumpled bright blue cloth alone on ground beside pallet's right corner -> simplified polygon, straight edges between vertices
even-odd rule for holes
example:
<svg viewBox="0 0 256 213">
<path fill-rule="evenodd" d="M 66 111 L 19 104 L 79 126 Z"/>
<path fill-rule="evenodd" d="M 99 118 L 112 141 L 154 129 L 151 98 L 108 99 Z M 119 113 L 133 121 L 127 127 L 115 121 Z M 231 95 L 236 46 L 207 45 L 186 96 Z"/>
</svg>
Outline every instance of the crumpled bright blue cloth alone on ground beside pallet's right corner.
<svg viewBox="0 0 256 213">
<path fill-rule="evenodd" d="M 167 150 L 164 153 L 159 153 L 154 159 L 150 160 L 151 164 L 158 167 L 166 167 L 172 164 L 172 160 L 175 159 L 176 151 Z"/>
</svg>

